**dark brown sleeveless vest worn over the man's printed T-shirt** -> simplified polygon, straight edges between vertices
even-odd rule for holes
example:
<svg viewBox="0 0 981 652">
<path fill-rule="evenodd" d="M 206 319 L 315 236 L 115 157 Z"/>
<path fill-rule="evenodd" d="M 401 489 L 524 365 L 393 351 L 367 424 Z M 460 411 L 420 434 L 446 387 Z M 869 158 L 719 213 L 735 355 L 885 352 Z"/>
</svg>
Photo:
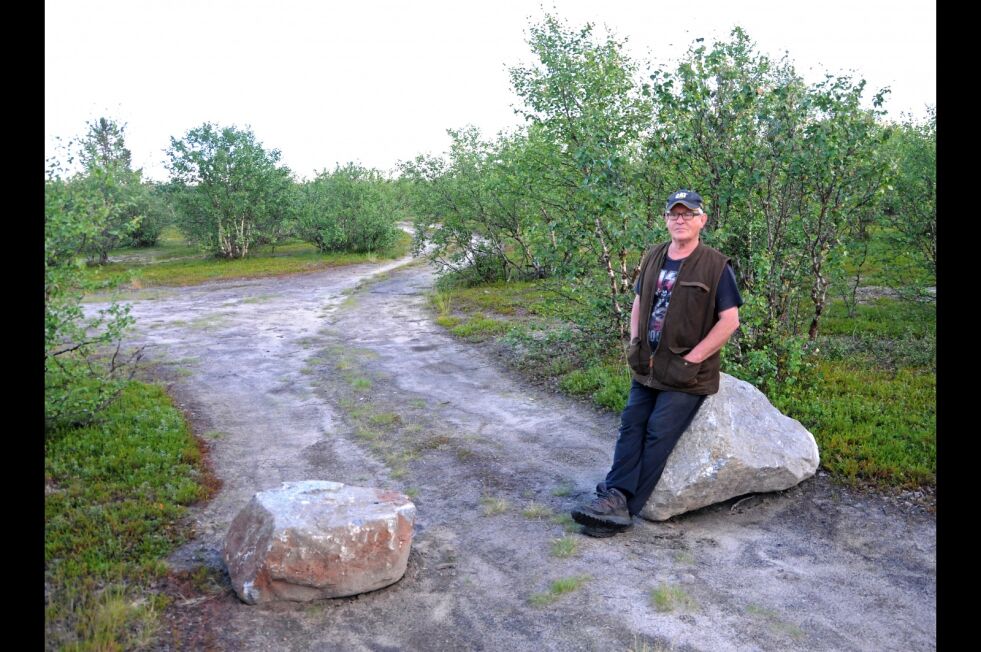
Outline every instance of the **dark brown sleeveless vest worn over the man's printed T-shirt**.
<svg viewBox="0 0 981 652">
<path fill-rule="evenodd" d="M 670 242 L 655 245 L 640 266 L 640 337 L 631 342 L 627 361 L 637 382 L 688 394 L 715 394 L 719 391 L 719 351 L 701 364 L 682 358 L 701 342 L 715 323 L 715 294 L 719 279 L 729 259 L 712 247 L 699 242 L 681 261 L 678 278 L 671 292 L 671 302 L 664 316 L 664 326 L 657 349 L 651 351 L 647 336 L 654 303 L 657 277 L 667 257 Z"/>
</svg>

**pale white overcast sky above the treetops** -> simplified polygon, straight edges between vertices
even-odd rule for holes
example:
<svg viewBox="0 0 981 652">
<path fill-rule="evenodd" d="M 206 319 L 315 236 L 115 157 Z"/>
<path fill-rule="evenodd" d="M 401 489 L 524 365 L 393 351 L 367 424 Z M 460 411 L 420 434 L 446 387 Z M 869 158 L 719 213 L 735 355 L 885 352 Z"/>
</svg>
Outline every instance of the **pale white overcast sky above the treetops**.
<svg viewBox="0 0 981 652">
<path fill-rule="evenodd" d="M 347 161 L 387 171 L 443 152 L 448 128 L 519 123 L 507 67 L 531 62 L 543 7 L 628 38 L 636 60 L 673 63 L 740 25 L 808 81 L 851 72 L 867 98 L 889 86 L 896 119 L 936 103 L 927 0 L 46 0 L 45 153 L 106 115 L 160 180 L 170 137 L 206 121 L 251 126 L 300 177 Z"/>
</svg>

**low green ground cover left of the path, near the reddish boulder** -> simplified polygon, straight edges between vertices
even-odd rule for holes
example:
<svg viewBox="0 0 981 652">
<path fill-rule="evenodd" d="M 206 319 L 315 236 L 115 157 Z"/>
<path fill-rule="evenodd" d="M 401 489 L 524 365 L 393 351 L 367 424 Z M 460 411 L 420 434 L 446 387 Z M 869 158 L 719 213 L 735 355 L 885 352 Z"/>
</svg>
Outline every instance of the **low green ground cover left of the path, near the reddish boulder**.
<svg viewBox="0 0 981 652">
<path fill-rule="evenodd" d="M 209 490 L 201 451 L 163 389 L 129 383 L 101 424 L 45 440 L 45 619 L 50 644 L 136 649 L 165 598 L 151 585 Z"/>
</svg>

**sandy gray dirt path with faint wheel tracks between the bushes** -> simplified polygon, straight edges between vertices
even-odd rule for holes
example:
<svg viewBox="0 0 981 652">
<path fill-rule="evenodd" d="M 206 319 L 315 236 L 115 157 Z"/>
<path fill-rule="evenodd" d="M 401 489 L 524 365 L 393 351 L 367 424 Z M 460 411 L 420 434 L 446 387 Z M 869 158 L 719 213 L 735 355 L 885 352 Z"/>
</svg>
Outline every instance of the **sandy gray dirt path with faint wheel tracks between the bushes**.
<svg viewBox="0 0 981 652">
<path fill-rule="evenodd" d="M 446 335 L 425 307 L 432 272 L 407 262 L 134 302 L 136 339 L 170 362 L 224 483 L 194 510 L 198 537 L 177 567 L 221 568 L 232 518 L 285 480 L 394 488 L 418 507 L 395 585 L 303 605 L 178 601 L 157 649 L 936 648 L 935 517 L 822 477 L 611 539 L 573 533 L 575 552 L 554 556 L 565 525 L 546 508 L 567 514 L 592 492 L 618 417 Z M 589 579 L 529 603 L 573 576 Z M 686 604 L 658 610 L 658 587 Z"/>
</svg>

